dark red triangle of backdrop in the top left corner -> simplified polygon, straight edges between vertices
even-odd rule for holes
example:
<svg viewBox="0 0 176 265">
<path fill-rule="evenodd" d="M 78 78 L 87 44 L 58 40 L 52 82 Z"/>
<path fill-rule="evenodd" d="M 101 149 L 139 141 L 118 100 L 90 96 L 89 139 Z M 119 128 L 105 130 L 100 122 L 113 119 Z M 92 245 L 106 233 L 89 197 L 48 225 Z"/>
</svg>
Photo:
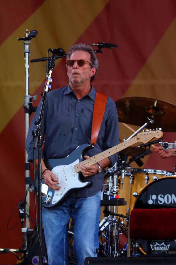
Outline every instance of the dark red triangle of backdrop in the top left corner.
<svg viewBox="0 0 176 265">
<path fill-rule="evenodd" d="M 0 8 L 0 45 L 34 13 L 45 0 L 3 1 Z M 10 3 L 9 3 L 10 2 Z M 3 26 L 2 26 L 3 25 Z M 34 29 L 29 29 L 34 30 Z M 25 29 L 22 36 L 25 37 Z"/>
</svg>

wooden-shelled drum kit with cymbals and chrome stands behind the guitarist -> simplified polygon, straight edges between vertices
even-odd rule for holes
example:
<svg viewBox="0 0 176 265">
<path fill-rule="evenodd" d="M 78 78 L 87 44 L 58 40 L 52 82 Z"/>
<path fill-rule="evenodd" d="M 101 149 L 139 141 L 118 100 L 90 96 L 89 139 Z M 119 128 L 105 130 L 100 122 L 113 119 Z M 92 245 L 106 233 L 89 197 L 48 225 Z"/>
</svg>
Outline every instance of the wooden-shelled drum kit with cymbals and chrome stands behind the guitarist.
<svg viewBox="0 0 176 265">
<path fill-rule="evenodd" d="M 162 131 L 176 132 L 176 106 L 173 104 L 142 97 L 122 98 L 115 103 L 119 122 L 137 126 L 144 124 L 127 140 L 145 127 L 146 131 L 151 130 L 153 123 L 156 127 L 162 127 Z M 162 145 L 162 140 L 159 143 Z M 142 166 L 140 158 L 152 153 L 150 144 L 148 146 L 124 149 L 119 153 L 119 161 L 105 171 L 101 197 L 101 205 L 105 207 L 104 218 L 99 223 L 100 256 L 126 255 L 128 219 L 132 209 L 176 207 L 175 172 L 131 169 L 132 161 Z M 172 149 L 174 145 L 163 149 L 168 148 Z M 140 244 L 139 253 L 147 254 Z"/>
</svg>

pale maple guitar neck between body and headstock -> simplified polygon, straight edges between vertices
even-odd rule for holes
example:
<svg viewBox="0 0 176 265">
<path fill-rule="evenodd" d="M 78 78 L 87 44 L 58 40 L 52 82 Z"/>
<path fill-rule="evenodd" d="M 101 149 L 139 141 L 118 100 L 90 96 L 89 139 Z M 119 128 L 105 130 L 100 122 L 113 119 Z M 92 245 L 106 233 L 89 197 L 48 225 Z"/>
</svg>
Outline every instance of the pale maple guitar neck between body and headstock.
<svg viewBox="0 0 176 265">
<path fill-rule="evenodd" d="M 80 167 L 79 167 L 80 165 L 83 165 L 83 166 L 91 165 L 92 166 L 92 165 L 96 164 L 97 162 L 100 162 L 103 159 L 105 159 L 109 156 L 112 156 L 113 154 L 116 154 L 116 153 L 120 152 L 121 150 L 123 150 L 123 149 L 125 149 L 125 148 L 127 148 L 127 147 L 129 147 L 135 143 L 137 143 L 136 137 L 133 137 L 133 138 L 131 138 L 131 139 L 129 139 L 123 143 L 117 144 L 117 145 L 115 145 L 115 146 L 95 155 L 95 156 L 92 156 L 92 157 L 90 157 L 84 161 L 81 161 L 74 166 L 75 172 L 76 173 L 80 172 Z"/>
</svg>

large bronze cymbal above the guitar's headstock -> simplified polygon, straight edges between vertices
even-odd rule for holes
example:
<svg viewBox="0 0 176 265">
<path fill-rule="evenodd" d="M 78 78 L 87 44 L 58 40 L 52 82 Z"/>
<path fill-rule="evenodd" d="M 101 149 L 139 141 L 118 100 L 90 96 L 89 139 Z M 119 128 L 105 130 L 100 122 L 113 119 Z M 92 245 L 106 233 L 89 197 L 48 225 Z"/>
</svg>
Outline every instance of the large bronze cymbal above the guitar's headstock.
<svg viewBox="0 0 176 265">
<path fill-rule="evenodd" d="M 148 129 L 161 127 L 165 132 L 176 132 L 176 105 L 159 99 L 127 97 L 116 102 L 118 121 L 130 125 L 142 126 L 148 118 L 154 120 Z"/>
</svg>

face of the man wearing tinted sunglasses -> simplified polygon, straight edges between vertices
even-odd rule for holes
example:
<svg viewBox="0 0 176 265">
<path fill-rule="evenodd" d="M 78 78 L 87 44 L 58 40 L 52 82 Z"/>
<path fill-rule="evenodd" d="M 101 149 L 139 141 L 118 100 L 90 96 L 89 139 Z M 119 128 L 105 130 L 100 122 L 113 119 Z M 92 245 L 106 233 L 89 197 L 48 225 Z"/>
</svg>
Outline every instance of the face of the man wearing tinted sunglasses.
<svg viewBox="0 0 176 265">
<path fill-rule="evenodd" d="M 84 59 L 90 62 L 91 55 L 85 51 L 74 51 L 70 55 L 70 60 L 80 60 Z M 70 85 L 74 84 L 84 84 L 90 82 L 91 76 L 96 72 L 95 67 L 91 67 L 89 63 L 85 63 L 82 67 L 79 67 L 75 61 L 73 66 L 68 66 L 67 75 L 70 81 Z"/>
</svg>

